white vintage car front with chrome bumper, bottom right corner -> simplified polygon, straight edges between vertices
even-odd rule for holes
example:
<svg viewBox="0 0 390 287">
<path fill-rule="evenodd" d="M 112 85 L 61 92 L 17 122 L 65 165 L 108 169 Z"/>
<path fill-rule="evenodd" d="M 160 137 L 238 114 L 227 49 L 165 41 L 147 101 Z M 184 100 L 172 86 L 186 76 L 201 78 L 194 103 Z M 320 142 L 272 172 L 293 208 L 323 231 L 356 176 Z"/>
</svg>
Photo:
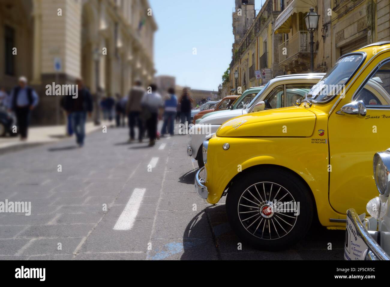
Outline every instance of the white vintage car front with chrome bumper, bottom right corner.
<svg viewBox="0 0 390 287">
<path fill-rule="evenodd" d="M 367 203 L 370 217 L 347 210 L 345 260 L 390 260 L 390 149 L 376 153 L 373 165 L 379 196 Z"/>
</svg>

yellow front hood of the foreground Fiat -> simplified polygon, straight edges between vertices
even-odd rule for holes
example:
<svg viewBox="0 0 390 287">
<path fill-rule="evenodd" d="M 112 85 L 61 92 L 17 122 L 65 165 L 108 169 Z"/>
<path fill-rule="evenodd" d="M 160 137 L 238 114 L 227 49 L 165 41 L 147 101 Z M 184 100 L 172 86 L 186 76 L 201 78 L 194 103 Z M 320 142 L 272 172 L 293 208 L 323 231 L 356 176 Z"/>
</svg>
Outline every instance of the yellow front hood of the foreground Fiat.
<svg viewBox="0 0 390 287">
<path fill-rule="evenodd" d="M 245 114 L 223 123 L 218 137 L 309 137 L 316 115 L 304 107 L 287 107 Z"/>
</svg>

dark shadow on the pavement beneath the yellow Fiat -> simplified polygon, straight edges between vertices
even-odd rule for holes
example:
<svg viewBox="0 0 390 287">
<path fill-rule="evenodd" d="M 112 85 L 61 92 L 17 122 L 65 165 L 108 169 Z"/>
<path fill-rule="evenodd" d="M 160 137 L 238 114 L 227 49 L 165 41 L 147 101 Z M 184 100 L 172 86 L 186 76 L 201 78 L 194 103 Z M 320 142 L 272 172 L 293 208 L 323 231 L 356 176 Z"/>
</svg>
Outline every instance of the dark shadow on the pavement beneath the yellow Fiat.
<svg viewBox="0 0 390 287">
<path fill-rule="evenodd" d="M 205 236 L 205 229 L 211 230 L 210 236 Z M 314 221 L 295 246 L 281 251 L 257 250 L 232 231 L 225 205 L 218 204 L 199 212 L 186 226 L 181 260 L 343 260 L 344 232 L 328 230 Z"/>
</svg>

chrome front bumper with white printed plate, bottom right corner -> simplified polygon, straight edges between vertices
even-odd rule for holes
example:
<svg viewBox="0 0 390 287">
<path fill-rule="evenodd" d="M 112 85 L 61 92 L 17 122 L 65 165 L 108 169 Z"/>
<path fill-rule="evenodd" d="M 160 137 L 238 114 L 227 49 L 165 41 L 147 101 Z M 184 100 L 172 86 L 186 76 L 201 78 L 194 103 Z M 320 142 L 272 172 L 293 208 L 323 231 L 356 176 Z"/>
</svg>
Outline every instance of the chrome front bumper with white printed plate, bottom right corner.
<svg viewBox="0 0 390 287">
<path fill-rule="evenodd" d="M 390 260 L 389 255 L 376 242 L 376 238 L 378 238 L 378 232 L 367 231 L 355 209 L 348 209 L 344 259 Z"/>
</svg>

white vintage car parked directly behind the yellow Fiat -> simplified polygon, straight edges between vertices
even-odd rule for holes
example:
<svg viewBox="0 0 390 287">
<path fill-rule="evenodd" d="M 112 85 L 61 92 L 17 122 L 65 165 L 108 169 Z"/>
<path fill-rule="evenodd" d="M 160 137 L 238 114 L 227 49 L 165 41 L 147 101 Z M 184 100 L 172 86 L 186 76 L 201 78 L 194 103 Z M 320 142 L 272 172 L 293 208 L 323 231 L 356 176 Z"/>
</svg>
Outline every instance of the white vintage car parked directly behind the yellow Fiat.
<svg viewBox="0 0 390 287">
<path fill-rule="evenodd" d="M 295 105 L 296 100 L 305 96 L 305 93 L 308 93 L 324 75 L 324 73 L 310 73 L 275 77 L 243 109 L 220 111 L 202 118 L 188 131 L 187 154 L 194 157 L 201 168 L 204 166 L 203 141 L 215 133 L 225 121 L 262 109 L 277 109 Z"/>
</svg>

